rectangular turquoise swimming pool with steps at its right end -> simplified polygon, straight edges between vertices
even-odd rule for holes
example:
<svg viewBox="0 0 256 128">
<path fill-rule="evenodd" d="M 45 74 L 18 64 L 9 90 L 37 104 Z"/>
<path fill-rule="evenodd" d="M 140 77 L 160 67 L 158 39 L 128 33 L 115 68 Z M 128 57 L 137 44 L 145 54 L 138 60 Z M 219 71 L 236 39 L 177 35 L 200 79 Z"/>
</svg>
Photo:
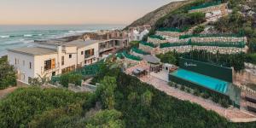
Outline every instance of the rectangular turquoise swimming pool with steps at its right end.
<svg viewBox="0 0 256 128">
<path fill-rule="evenodd" d="M 220 79 L 214 79 L 212 77 L 208 77 L 202 75 L 200 73 L 190 72 L 184 69 L 177 69 L 172 75 L 176 76 L 180 79 L 185 79 L 195 84 L 200 84 L 203 87 L 206 87 L 211 90 L 216 90 L 221 93 L 225 93 L 228 89 L 228 82 L 225 82 Z"/>
</svg>

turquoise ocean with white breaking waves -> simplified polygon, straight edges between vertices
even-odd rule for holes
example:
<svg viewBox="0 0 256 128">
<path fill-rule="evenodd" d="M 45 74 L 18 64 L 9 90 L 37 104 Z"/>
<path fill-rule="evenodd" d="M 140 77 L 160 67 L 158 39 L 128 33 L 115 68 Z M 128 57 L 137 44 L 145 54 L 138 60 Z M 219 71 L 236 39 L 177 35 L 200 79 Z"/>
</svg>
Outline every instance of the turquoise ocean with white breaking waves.
<svg viewBox="0 0 256 128">
<path fill-rule="evenodd" d="M 0 26 L 0 56 L 7 55 L 7 49 L 32 47 L 33 41 L 38 39 L 63 38 L 124 27 L 125 25 Z"/>
</svg>

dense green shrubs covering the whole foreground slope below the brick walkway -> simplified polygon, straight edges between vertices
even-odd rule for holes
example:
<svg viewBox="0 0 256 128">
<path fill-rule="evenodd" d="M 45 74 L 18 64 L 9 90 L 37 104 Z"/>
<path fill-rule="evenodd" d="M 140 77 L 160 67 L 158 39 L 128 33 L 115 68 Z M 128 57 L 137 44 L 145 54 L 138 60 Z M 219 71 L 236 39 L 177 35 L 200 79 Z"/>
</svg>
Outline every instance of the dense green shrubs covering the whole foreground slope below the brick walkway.
<svg viewBox="0 0 256 128">
<path fill-rule="evenodd" d="M 22 88 L 0 101 L 0 127 L 255 127 L 232 124 L 119 68 L 102 67 L 96 93 Z M 101 107 L 102 106 L 102 107 Z M 102 110 L 101 110 L 102 109 Z M 172 116 L 170 116 L 172 115 Z"/>
</svg>

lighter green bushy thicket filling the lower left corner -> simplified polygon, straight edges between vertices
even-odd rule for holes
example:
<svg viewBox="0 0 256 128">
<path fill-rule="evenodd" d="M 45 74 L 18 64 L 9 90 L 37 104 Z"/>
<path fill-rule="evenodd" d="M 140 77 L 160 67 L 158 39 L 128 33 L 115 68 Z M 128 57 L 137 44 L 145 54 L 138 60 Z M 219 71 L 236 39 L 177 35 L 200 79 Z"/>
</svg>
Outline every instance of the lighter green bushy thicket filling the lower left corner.
<svg viewBox="0 0 256 128">
<path fill-rule="evenodd" d="M 15 90 L 0 101 L 0 127 L 27 127 L 36 115 L 50 109 L 81 103 L 89 96 L 88 93 L 57 89 L 21 88 Z"/>
</svg>

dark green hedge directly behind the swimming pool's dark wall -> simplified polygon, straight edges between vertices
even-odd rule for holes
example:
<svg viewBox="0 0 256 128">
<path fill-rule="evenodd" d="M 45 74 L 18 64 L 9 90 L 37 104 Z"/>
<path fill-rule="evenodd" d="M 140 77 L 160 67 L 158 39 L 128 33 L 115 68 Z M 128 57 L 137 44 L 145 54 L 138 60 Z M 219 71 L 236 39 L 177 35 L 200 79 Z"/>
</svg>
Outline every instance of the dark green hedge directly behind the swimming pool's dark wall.
<svg viewBox="0 0 256 128">
<path fill-rule="evenodd" d="M 244 62 L 246 60 L 246 55 L 244 53 L 238 54 L 212 54 L 207 52 L 207 50 L 191 50 L 186 53 L 177 53 L 176 51 L 170 51 L 166 54 L 157 55 L 160 60 L 164 63 L 171 63 L 178 65 L 178 60 L 180 57 L 193 59 L 196 61 L 205 61 L 212 64 L 216 64 L 222 67 L 234 67 L 236 71 L 241 71 L 244 69 Z"/>
</svg>

